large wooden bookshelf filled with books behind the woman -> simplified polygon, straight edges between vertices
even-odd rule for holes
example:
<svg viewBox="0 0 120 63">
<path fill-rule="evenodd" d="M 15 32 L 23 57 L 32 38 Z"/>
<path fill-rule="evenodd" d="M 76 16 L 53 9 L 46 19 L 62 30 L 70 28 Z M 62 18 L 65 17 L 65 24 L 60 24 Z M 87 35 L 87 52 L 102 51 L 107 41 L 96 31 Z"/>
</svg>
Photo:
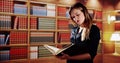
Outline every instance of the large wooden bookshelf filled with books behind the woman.
<svg viewBox="0 0 120 63">
<path fill-rule="evenodd" d="M 43 44 L 59 48 L 70 44 L 70 5 L 38 0 L 0 0 L 0 4 L 0 62 L 65 63 Z M 102 30 L 102 11 L 92 11 L 94 23 Z"/>
</svg>

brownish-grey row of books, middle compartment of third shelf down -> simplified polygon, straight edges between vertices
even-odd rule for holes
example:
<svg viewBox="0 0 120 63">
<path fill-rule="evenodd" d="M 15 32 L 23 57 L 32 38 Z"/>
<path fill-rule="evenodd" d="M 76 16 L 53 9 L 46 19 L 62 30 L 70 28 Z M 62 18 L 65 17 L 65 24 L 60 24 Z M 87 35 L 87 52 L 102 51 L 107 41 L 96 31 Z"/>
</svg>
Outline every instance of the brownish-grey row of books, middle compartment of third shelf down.
<svg viewBox="0 0 120 63">
<path fill-rule="evenodd" d="M 54 42 L 53 32 L 31 32 L 30 33 L 30 43 L 39 42 Z"/>
</svg>

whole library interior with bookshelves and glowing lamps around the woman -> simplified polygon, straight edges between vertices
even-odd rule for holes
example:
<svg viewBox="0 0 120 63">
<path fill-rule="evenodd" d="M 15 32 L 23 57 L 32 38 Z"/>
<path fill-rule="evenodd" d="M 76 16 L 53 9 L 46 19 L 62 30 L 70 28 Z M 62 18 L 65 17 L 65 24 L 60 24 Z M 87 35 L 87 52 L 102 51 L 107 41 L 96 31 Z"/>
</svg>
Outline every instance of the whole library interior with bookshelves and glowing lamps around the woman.
<svg viewBox="0 0 120 63">
<path fill-rule="evenodd" d="M 66 63 L 43 45 L 70 44 L 76 2 L 100 29 L 94 63 L 120 62 L 120 0 L 0 0 L 0 63 Z"/>
</svg>

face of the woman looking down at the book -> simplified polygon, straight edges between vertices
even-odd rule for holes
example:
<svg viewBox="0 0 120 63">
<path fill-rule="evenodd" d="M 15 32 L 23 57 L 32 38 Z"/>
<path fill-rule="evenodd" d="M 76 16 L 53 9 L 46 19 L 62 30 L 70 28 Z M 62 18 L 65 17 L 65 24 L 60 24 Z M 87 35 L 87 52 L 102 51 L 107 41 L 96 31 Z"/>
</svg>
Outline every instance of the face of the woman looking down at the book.
<svg viewBox="0 0 120 63">
<path fill-rule="evenodd" d="M 80 9 L 73 9 L 72 12 L 71 12 L 71 18 L 79 26 L 82 26 L 82 24 L 83 24 L 83 22 L 85 20 L 85 16 L 84 16 L 83 12 Z"/>
</svg>

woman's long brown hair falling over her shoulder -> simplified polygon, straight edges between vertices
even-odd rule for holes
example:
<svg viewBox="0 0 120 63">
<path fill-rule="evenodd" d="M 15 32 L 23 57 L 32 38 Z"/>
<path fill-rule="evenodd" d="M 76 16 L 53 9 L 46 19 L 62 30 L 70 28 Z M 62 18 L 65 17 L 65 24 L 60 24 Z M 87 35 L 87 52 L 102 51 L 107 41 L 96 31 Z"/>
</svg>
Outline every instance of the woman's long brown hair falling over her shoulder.
<svg viewBox="0 0 120 63">
<path fill-rule="evenodd" d="M 92 17 L 88 13 L 87 8 L 80 2 L 77 2 L 76 4 L 71 6 L 70 11 L 69 11 L 70 17 L 71 17 L 71 12 L 73 9 L 79 9 L 80 11 L 83 12 L 83 14 L 85 16 L 85 21 L 83 22 L 83 26 L 86 28 L 85 39 L 89 39 L 89 33 L 90 33 L 91 26 L 92 26 Z M 73 20 L 72 17 L 71 17 L 71 19 Z"/>
</svg>

